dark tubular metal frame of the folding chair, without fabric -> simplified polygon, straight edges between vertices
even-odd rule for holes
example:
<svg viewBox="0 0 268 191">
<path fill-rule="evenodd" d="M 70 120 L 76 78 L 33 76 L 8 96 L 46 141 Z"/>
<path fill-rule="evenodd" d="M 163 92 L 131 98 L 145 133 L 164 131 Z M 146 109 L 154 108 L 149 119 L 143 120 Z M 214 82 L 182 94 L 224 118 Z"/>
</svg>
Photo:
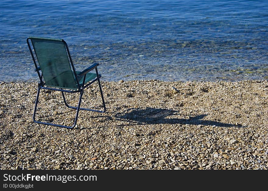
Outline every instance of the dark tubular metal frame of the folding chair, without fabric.
<svg viewBox="0 0 268 191">
<path fill-rule="evenodd" d="M 75 80 L 77 81 L 77 86 L 78 86 L 77 89 L 78 90 L 66 90 L 66 89 L 62 89 L 62 88 L 45 87 L 45 82 L 43 81 L 43 74 L 40 74 L 40 72 L 39 72 L 41 70 L 41 68 L 37 65 L 37 62 L 35 60 L 35 57 L 34 57 L 34 54 L 33 54 L 33 51 L 32 51 L 31 45 L 30 45 L 30 42 L 29 42 L 30 39 L 60 41 L 60 42 L 63 42 L 65 44 L 65 48 L 66 48 L 66 51 L 68 53 L 69 61 L 70 61 L 70 64 L 72 66 L 72 70 L 73 70 L 74 75 L 75 75 Z M 67 43 L 63 39 L 54 39 L 54 38 L 43 38 L 43 37 L 29 36 L 27 38 L 27 44 L 28 44 L 28 47 L 29 47 L 31 56 L 33 58 L 33 63 L 34 63 L 35 68 L 36 68 L 35 71 L 37 71 L 37 74 L 38 74 L 39 79 L 40 79 L 40 82 L 38 82 L 37 96 L 36 96 L 35 107 L 34 107 L 34 112 L 33 112 L 33 121 L 35 123 L 40 123 L 40 124 L 45 124 L 45 125 L 52 125 L 52 126 L 56 126 L 56 127 L 65 127 L 65 128 L 72 129 L 73 127 L 76 126 L 77 119 L 78 119 L 78 113 L 79 113 L 79 110 L 80 109 L 81 110 L 86 110 L 86 111 L 99 112 L 99 113 L 104 113 L 106 111 L 106 106 L 105 106 L 103 92 L 102 92 L 102 88 L 101 88 L 101 82 L 100 82 L 101 75 L 99 75 L 98 70 L 97 70 L 97 66 L 99 65 L 98 63 L 92 64 L 90 67 L 86 68 L 85 70 L 83 70 L 82 72 L 80 72 L 77 75 L 76 74 L 75 67 L 73 65 L 73 61 L 72 61 L 72 57 L 71 57 L 71 54 L 70 54 L 68 45 L 67 45 Z M 34 47 L 33 47 L 33 49 L 34 49 Z M 86 73 L 88 73 L 89 71 L 91 71 L 93 69 L 96 70 L 97 78 L 95 78 L 93 81 L 90 81 L 88 84 L 85 85 Z M 83 84 L 82 85 L 79 84 L 79 80 L 78 80 L 78 76 L 81 76 L 81 75 L 84 75 Z M 82 96 L 83 96 L 83 93 L 84 93 L 84 89 L 86 87 L 88 87 L 89 85 L 91 85 L 92 83 L 96 82 L 96 81 L 98 81 L 100 92 L 101 92 L 101 99 L 102 99 L 102 103 L 103 103 L 103 110 L 95 110 L 95 109 L 88 109 L 88 108 L 82 108 L 82 107 L 80 107 Z M 47 122 L 42 122 L 42 121 L 35 120 L 35 115 L 36 115 L 36 110 L 37 110 L 37 104 L 38 104 L 38 98 L 39 98 L 39 94 L 40 94 L 40 90 L 41 89 L 48 89 L 48 90 L 54 90 L 54 91 L 60 91 L 60 92 L 62 92 L 62 97 L 63 97 L 63 101 L 64 101 L 65 106 L 67 106 L 68 108 L 76 109 L 76 116 L 75 116 L 75 120 L 74 120 L 74 123 L 73 123 L 72 126 L 65 126 L 65 125 L 59 125 L 59 124 L 55 124 L 55 123 L 47 123 Z M 80 93 L 79 102 L 78 102 L 78 106 L 77 107 L 69 106 L 68 105 L 68 103 L 66 102 L 66 99 L 65 99 L 64 92 L 68 92 L 68 93 L 78 93 L 79 92 Z"/>
</svg>

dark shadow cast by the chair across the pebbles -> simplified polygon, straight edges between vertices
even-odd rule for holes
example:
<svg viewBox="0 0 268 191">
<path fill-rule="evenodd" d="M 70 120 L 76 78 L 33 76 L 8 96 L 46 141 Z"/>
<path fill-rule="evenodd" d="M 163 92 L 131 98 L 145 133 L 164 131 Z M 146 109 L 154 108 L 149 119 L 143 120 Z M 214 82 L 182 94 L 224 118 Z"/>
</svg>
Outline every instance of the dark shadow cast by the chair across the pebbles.
<svg viewBox="0 0 268 191">
<path fill-rule="evenodd" d="M 130 112 L 129 112 L 130 111 Z M 215 125 L 217 127 L 244 127 L 240 124 L 221 123 L 217 121 L 202 120 L 206 114 L 189 116 L 189 119 L 166 118 L 167 116 L 176 115 L 178 111 L 171 109 L 127 109 L 124 113 L 117 113 L 115 117 L 120 120 L 131 120 L 139 124 L 189 124 L 189 125 Z"/>
</svg>

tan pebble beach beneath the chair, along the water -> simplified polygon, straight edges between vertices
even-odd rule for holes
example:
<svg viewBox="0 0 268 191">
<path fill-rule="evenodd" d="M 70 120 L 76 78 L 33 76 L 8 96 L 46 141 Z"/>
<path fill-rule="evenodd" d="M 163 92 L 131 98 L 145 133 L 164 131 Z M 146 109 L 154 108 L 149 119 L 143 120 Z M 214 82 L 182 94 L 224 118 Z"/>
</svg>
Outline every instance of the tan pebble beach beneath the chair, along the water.
<svg viewBox="0 0 268 191">
<path fill-rule="evenodd" d="M 70 130 L 33 122 L 36 82 L 1 82 L 0 169 L 268 168 L 268 81 L 101 83 L 107 111 L 80 110 Z M 101 109 L 97 83 L 81 107 Z M 36 120 L 74 116 L 41 90 Z"/>
</svg>

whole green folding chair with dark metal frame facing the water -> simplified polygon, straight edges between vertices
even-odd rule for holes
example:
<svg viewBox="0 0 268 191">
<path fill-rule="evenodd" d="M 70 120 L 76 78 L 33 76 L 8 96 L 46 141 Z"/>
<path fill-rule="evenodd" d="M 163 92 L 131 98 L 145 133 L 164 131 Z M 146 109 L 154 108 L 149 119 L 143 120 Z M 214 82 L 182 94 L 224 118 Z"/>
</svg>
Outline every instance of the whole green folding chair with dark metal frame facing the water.
<svg viewBox="0 0 268 191">
<path fill-rule="evenodd" d="M 98 74 L 97 70 L 97 66 L 99 64 L 97 63 L 92 64 L 90 67 L 86 68 L 81 72 L 76 71 L 72 62 L 72 57 L 68 45 L 63 39 L 30 36 L 27 38 L 27 44 L 30 49 L 31 56 L 33 58 L 35 71 L 37 71 L 37 74 L 40 78 L 40 82 L 38 82 L 37 97 L 33 112 L 34 122 L 72 129 L 76 125 L 80 109 L 87 111 L 101 112 L 101 113 L 104 113 L 106 111 L 100 82 L 101 75 Z M 35 56 L 33 54 L 31 46 L 33 47 Z M 35 60 L 35 57 L 38 63 Z M 92 71 L 93 69 L 96 70 L 96 73 L 90 73 L 90 71 Z M 98 81 L 99 83 L 101 99 L 103 103 L 103 110 L 80 108 L 84 89 L 96 81 Z M 40 89 L 55 90 L 62 92 L 62 97 L 65 105 L 69 108 L 76 109 L 76 116 L 72 126 L 64 126 L 35 120 Z M 64 92 L 80 93 L 77 107 L 69 106 L 67 104 Z"/>
</svg>

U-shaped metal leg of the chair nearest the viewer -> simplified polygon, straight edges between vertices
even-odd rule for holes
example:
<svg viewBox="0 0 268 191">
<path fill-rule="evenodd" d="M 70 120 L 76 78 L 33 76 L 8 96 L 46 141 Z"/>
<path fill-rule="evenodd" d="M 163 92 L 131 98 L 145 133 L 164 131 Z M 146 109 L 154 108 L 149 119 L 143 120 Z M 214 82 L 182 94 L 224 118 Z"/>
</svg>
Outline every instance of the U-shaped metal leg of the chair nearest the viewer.
<svg viewBox="0 0 268 191">
<path fill-rule="evenodd" d="M 37 103 L 38 103 L 40 89 L 41 89 L 41 84 L 38 83 L 37 96 L 36 96 L 35 107 L 34 107 L 34 112 L 33 112 L 33 121 L 35 123 L 40 123 L 40 124 L 45 124 L 45 125 L 52 125 L 52 126 L 56 126 L 56 127 L 65 127 L 65 128 L 69 128 L 69 129 L 72 129 L 73 127 L 75 127 L 77 119 L 78 119 L 78 113 L 79 113 L 79 109 L 80 109 L 82 96 L 83 96 L 83 89 L 81 88 L 81 90 L 80 90 L 79 102 L 78 102 L 78 106 L 76 107 L 76 109 L 77 109 L 76 117 L 75 117 L 75 120 L 74 120 L 74 124 L 72 126 L 58 125 L 58 124 L 55 124 L 55 123 L 46 123 L 46 122 L 41 122 L 41 121 L 36 121 L 35 120 L 35 114 L 36 114 L 36 109 L 37 109 Z"/>
</svg>

